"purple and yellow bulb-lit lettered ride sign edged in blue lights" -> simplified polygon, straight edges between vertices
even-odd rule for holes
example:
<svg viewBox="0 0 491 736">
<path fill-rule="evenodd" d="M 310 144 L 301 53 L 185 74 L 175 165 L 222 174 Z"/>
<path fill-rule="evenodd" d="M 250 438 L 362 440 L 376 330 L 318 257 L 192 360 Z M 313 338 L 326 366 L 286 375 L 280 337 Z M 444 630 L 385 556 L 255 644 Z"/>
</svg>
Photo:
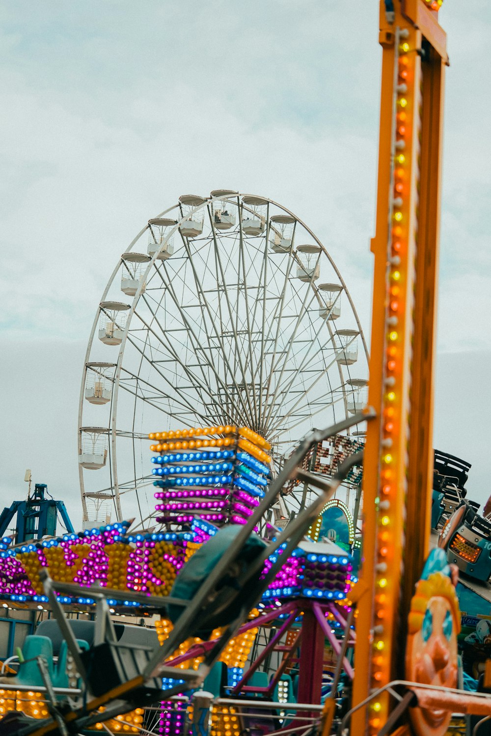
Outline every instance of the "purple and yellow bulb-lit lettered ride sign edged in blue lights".
<svg viewBox="0 0 491 736">
<path fill-rule="evenodd" d="M 91 605 L 87 587 L 100 585 L 121 591 L 110 606 L 138 606 L 126 601 L 124 592 L 168 595 L 187 559 L 217 531 L 196 519 L 191 531 L 126 535 L 129 523 L 117 523 L 79 534 L 9 548 L 4 538 L 0 551 L 0 598 L 14 604 L 47 602 L 40 570 L 54 581 L 79 585 L 80 595 L 60 595 L 62 604 Z M 324 549 L 325 548 L 325 549 Z M 265 570 L 273 558 L 266 561 Z M 350 587 L 351 556 L 337 545 L 318 545 L 317 551 L 301 547 L 285 560 L 282 569 L 263 595 L 265 604 L 279 598 L 304 596 L 341 601 Z"/>
</svg>

